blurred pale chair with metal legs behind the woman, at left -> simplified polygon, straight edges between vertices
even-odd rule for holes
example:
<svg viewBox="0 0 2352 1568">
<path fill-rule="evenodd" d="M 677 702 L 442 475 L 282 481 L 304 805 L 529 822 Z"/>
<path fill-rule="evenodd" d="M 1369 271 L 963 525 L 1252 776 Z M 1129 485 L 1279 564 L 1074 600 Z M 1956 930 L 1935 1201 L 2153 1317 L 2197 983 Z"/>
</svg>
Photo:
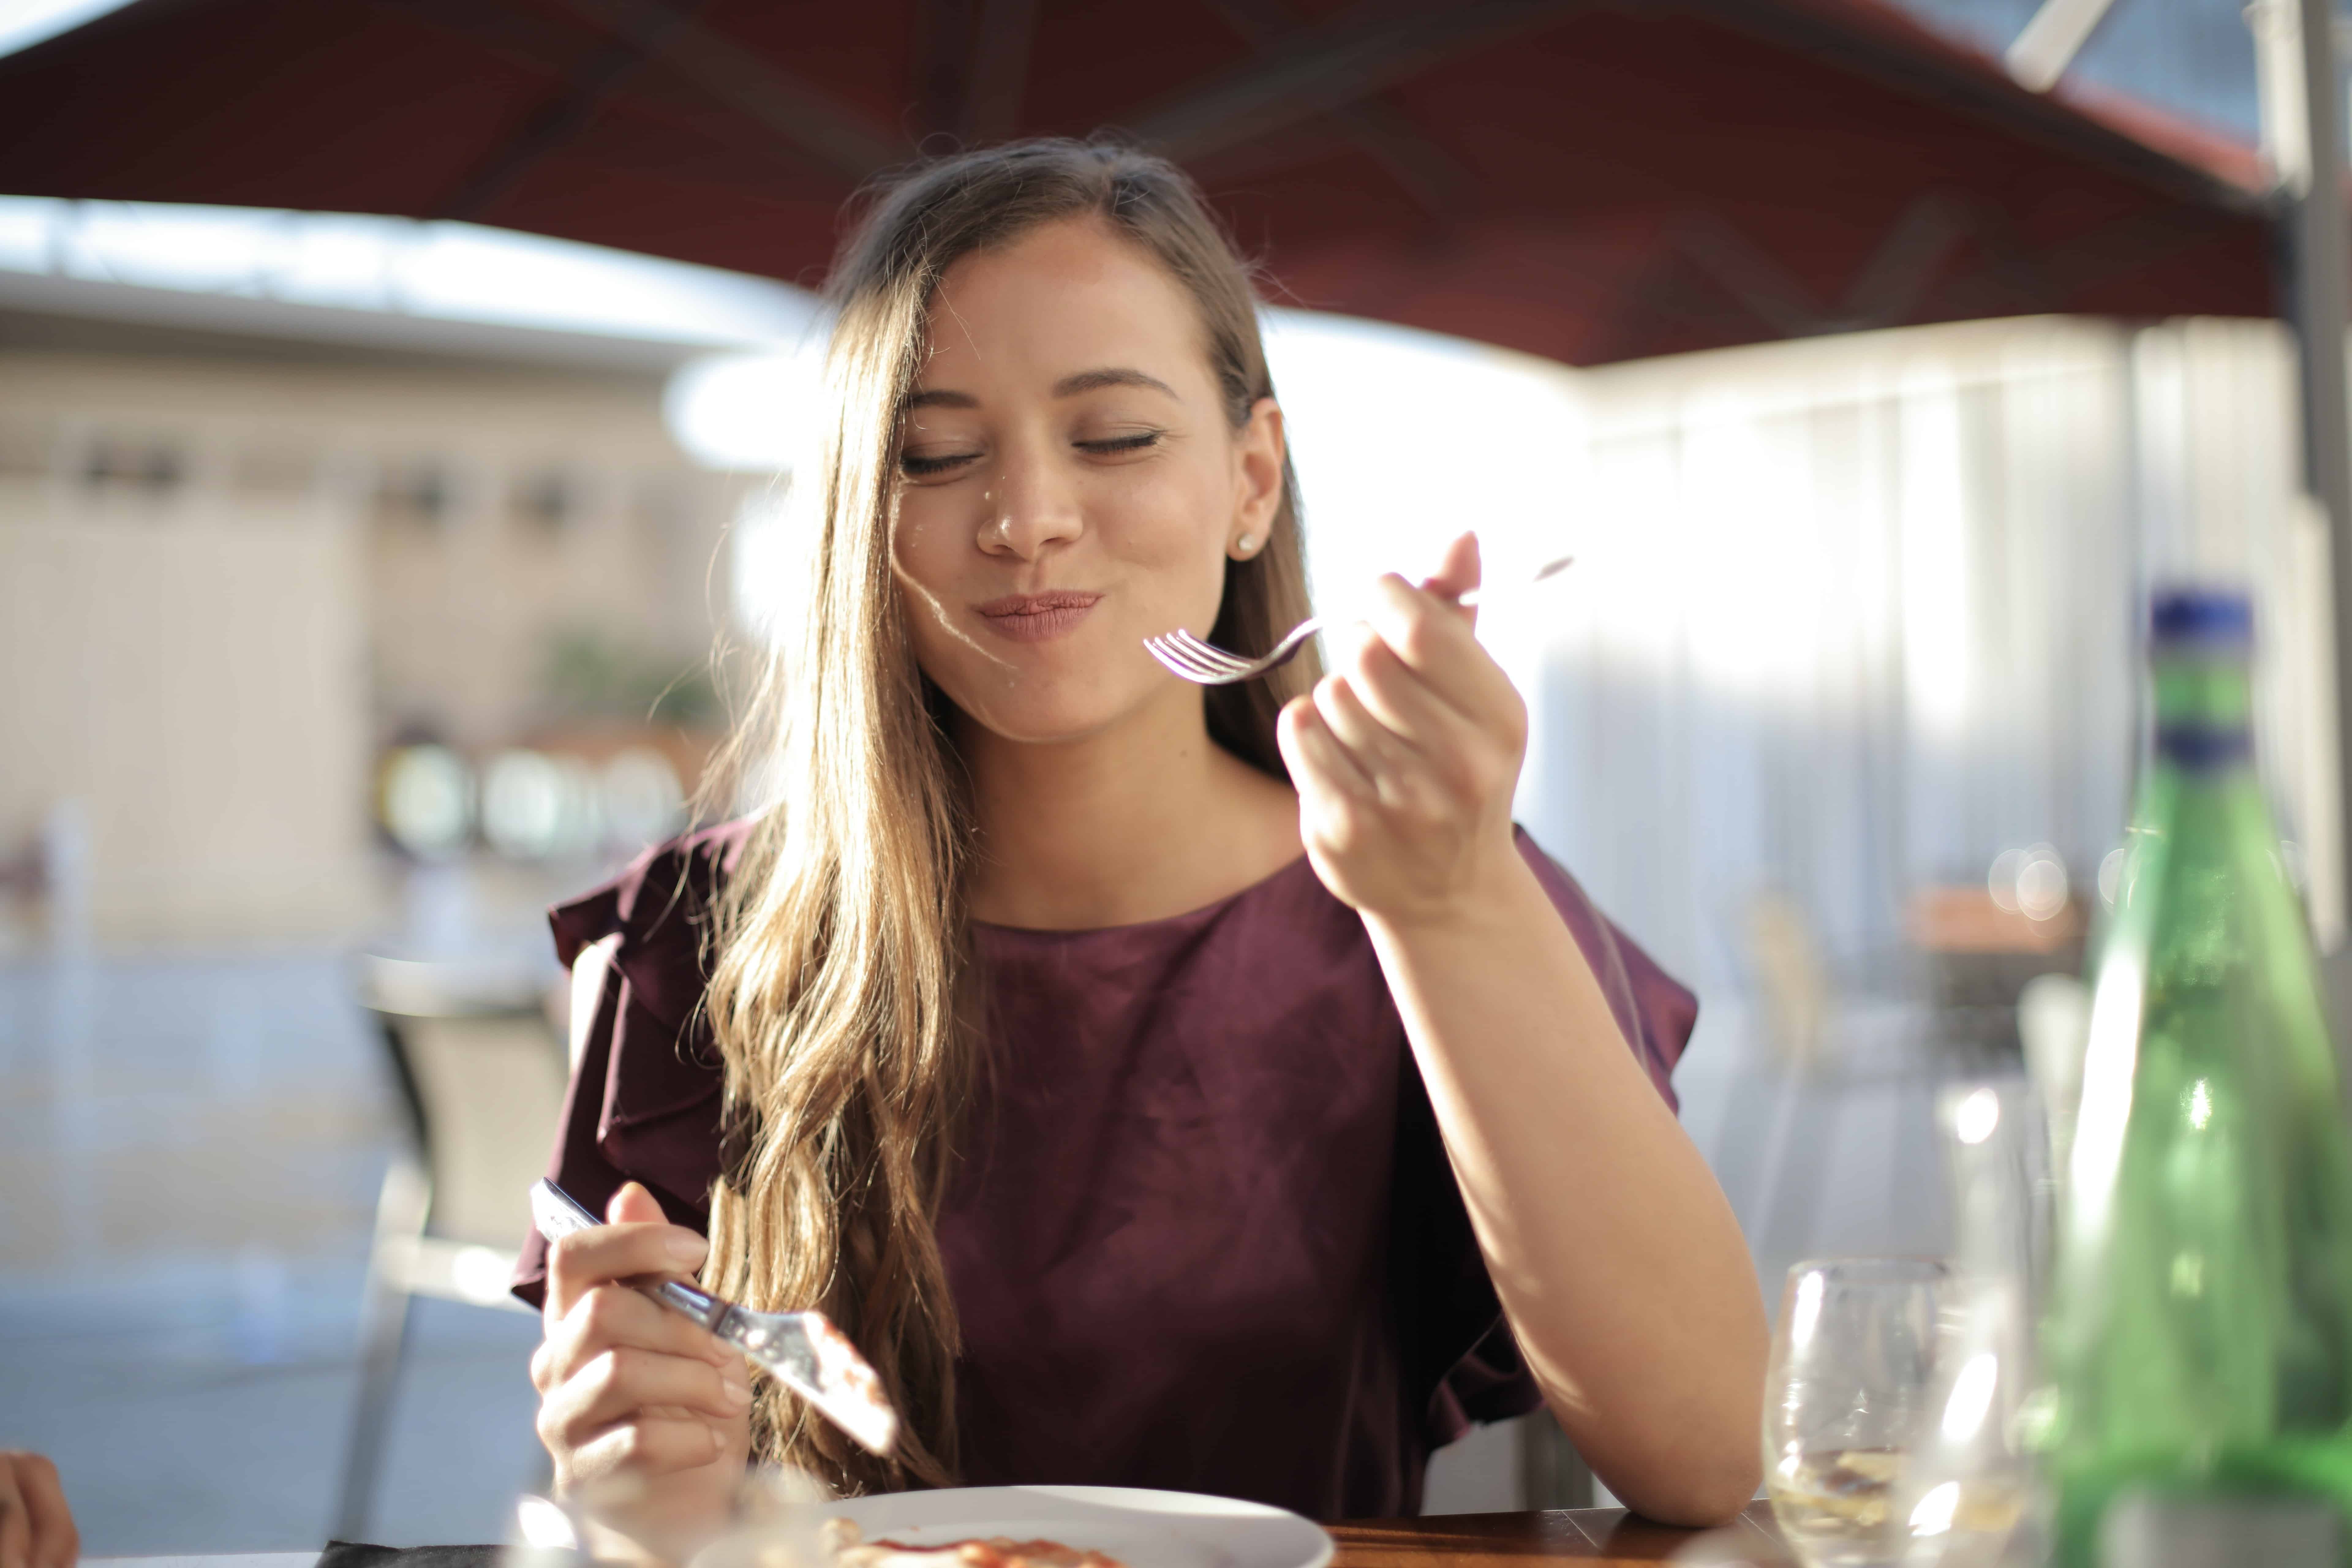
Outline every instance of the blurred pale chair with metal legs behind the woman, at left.
<svg viewBox="0 0 2352 1568">
<path fill-rule="evenodd" d="M 367 957 L 358 990 L 376 1016 L 409 1140 L 376 1199 L 336 1540 L 367 1537 L 412 1300 L 529 1312 L 506 1281 L 567 1079 L 541 978 L 527 969 Z"/>
</svg>

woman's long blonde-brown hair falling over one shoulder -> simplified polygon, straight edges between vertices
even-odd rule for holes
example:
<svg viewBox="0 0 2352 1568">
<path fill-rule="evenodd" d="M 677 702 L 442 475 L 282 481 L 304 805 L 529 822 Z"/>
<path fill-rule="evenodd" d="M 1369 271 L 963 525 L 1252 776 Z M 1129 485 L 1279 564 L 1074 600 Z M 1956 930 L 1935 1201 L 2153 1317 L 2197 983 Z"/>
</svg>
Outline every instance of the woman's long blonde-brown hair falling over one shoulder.
<svg viewBox="0 0 2352 1568">
<path fill-rule="evenodd" d="M 1185 287 L 1235 428 L 1272 395 L 1247 266 L 1174 165 L 1124 146 L 1021 141 L 922 165 L 873 193 L 835 263 L 826 416 L 788 524 L 802 574 L 722 766 L 774 804 L 715 924 L 706 1006 L 727 1110 L 706 1281 L 769 1309 L 823 1307 L 882 1373 L 906 1415 L 887 1462 L 776 1385 L 753 1408 L 757 1458 L 842 1490 L 955 1479 L 960 1333 L 936 1218 L 981 1051 L 969 797 L 891 574 L 898 418 L 948 268 L 1056 219 L 1110 226 Z M 1305 614 L 1284 461 L 1265 548 L 1228 559 L 1211 637 L 1263 651 Z M 1308 656 L 1209 689 L 1209 733 L 1279 778 L 1275 712 L 1312 682 Z"/>
</svg>

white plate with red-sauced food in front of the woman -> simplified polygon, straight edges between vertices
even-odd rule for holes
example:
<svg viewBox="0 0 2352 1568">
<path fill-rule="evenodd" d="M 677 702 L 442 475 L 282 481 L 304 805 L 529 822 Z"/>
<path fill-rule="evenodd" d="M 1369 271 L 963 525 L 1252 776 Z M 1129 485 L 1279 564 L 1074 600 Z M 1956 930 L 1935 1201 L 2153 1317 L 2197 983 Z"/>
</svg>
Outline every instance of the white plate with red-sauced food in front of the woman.
<svg viewBox="0 0 2352 1568">
<path fill-rule="evenodd" d="M 1324 1568 L 1331 1537 L 1263 1502 L 1131 1486 L 964 1486 L 828 1502 L 866 1540 L 936 1547 L 974 1535 L 1058 1540 L 1127 1568 Z"/>
</svg>

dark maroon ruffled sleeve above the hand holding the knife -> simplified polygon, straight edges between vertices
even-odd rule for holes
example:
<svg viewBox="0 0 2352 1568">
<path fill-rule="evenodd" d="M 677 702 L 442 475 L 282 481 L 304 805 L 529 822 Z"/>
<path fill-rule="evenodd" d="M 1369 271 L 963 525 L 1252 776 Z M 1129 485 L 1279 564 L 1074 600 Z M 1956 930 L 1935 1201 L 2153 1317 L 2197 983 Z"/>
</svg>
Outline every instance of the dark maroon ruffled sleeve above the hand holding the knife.
<svg viewBox="0 0 2352 1568">
<path fill-rule="evenodd" d="M 710 910 L 748 832 L 748 823 L 724 823 L 673 839 L 548 912 L 567 969 L 612 943 L 548 1157 L 548 1178 L 597 1213 L 635 1180 L 675 1225 L 710 1227 L 724 1086 L 703 1018 Z M 515 1265 L 513 1291 L 534 1307 L 546 1293 L 546 1251 L 534 1229 Z"/>
</svg>

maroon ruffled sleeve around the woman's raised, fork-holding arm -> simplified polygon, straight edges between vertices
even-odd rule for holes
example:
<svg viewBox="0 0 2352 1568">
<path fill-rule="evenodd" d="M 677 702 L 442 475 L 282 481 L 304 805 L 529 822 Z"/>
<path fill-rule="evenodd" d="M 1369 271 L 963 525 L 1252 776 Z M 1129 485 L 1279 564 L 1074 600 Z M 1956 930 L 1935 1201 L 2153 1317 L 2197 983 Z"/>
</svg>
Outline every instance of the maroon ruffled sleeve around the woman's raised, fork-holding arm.
<svg viewBox="0 0 2352 1568">
<path fill-rule="evenodd" d="M 1625 1046 L 1672 1107 L 1670 1079 L 1698 1023 L 1698 997 L 1618 931 L 1526 830 L 1519 830 L 1519 853 L 1576 936 Z M 1470 1229 L 1421 1074 L 1409 1070 L 1406 1079 L 1397 1131 L 1392 1234 L 1399 1276 L 1392 1300 L 1404 1316 L 1406 1378 L 1411 1387 L 1430 1389 L 1423 1406 L 1428 1446 L 1442 1448 L 1472 1425 L 1526 1415 L 1543 1403 L 1543 1392 L 1486 1276 L 1486 1258 Z"/>
</svg>

